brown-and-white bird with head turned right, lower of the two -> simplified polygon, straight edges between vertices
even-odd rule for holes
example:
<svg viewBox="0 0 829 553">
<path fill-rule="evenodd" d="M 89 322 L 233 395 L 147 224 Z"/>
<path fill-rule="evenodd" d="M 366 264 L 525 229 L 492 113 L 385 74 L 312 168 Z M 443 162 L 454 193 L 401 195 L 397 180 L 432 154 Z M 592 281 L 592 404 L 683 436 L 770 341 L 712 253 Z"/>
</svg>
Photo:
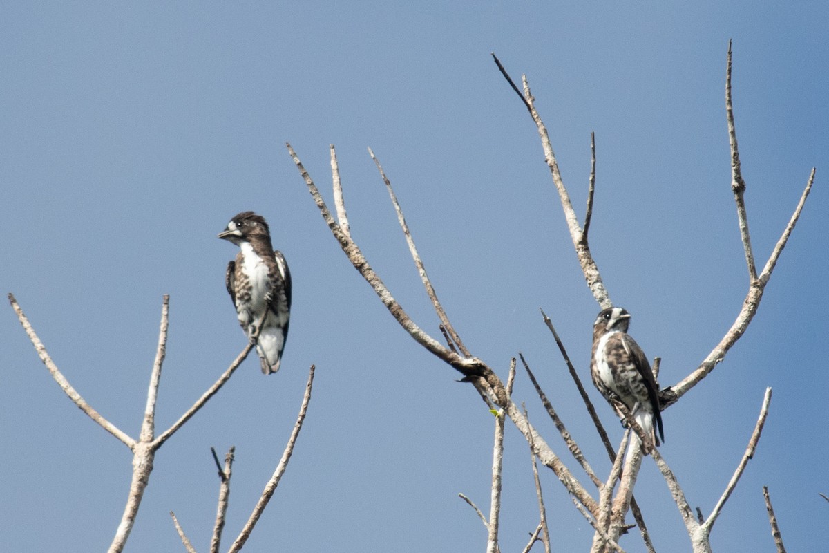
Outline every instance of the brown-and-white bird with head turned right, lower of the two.
<svg viewBox="0 0 829 553">
<path fill-rule="evenodd" d="M 608 308 L 599 313 L 593 324 L 590 375 L 604 399 L 610 405 L 615 399 L 627 406 L 653 444 L 659 445 L 654 425 L 659 431 L 659 438 L 665 441 L 662 415 L 659 413 L 659 385 L 645 352 L 627 334 L 629 324 L 630 313 L 623 308 Z M 622 416 L 621 413 L 618 415 Z"/>
</svg>

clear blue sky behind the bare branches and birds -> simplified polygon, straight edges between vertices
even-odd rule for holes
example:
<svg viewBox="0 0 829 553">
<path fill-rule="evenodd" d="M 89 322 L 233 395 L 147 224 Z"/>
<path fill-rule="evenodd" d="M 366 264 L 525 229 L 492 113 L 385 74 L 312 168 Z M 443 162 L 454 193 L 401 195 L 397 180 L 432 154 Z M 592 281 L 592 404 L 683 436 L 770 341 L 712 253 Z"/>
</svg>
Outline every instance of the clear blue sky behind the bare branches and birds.
<svg viewBox="0 0 829 553">
<path fill-rule="evenodd" d="M 788 548 L 817 551 L 829 540 L 829 503 L 818 495 L 829 493 L 827 17 L 824 2 L 5 2 L 0 284 L 97 410 L 138 434 L 164 293 L 171 327 L 160 429 L 244 347 L 224 289 L 235 250 L 215 237 L 235 213 L 268 219 L 293 274 L 282 370 L 266 378 L 246 361 L 164 445 L 126 551 L 182 551 L 170 510 L 206 551 L 218 487 L 210 447 L 234 444 L 232 540 L 279 459 L 312 363 L 308 420 L 245 551 L 485 546 L 457 494 L 488 504 L 492 415 L 347 263 L 285 142 L 328 198 L 336 144 L 352 235 L 437 336 L 366 147 L 374 150 L 464 342 L 503 376 L 523 352 L 607 473 L 539 313 L 553 318 L 586 379 L 599 307 L 535 127 L 490 52 L 516 79 L 528 76 L 579 214 L 596 133 L 592 250 L 614 302 L 633 313 L 631 333 L 663 358 L 669 386 L 720 340 L 748 286 L 725 127 L 729 39 L 760 265 L 812 167 L 817 181 L 754 323 L 664 413 L 661 451 L 707 514 L 772 386 L 759 449 L 712 545 L 772 549 L 767 485 Z M 104 550 L 131 454 L 65 398 L 11 308 L 0 317 L 0 348 L 0 549 Z M 515 398 L 564 452 L 523 376 Z M 621 439 L 609 408 L 600 400 L 597 408 Z M 501 546 L 520 551 L 536 526 L 536 499 L 526 444 L 512 427 L 504 470 Z M 561 551 L 585 551 L 593 532 L 555 477 L 541 479 L 551 536 Z M 636 493 L 657 551 L 689 551 L 649 459 Z M 642 551 L 637 536 L 623 546 Z"/>
</svg>

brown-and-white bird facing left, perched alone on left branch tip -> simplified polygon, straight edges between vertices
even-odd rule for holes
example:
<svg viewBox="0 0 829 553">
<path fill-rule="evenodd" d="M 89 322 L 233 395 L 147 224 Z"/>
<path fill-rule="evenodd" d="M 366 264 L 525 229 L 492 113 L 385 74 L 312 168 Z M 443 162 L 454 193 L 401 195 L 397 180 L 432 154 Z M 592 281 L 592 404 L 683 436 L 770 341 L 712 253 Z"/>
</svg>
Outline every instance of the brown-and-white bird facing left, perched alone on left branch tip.
<svg viewBox="0 0 829 553">
<path fill-rule="evenodd" d="M 227 264 L 225 273 L 225 285 L 239 324 L 252 339 L 265 318 L 256 342 L 256 353 L 264 374 L 279 371 L 291 314 L 288 264 L 282 253 L 270 244 L 268 223 L 253 211 L 235 216 L 218 237 L 240 247 L 235 261 Z"/>
</svg>

